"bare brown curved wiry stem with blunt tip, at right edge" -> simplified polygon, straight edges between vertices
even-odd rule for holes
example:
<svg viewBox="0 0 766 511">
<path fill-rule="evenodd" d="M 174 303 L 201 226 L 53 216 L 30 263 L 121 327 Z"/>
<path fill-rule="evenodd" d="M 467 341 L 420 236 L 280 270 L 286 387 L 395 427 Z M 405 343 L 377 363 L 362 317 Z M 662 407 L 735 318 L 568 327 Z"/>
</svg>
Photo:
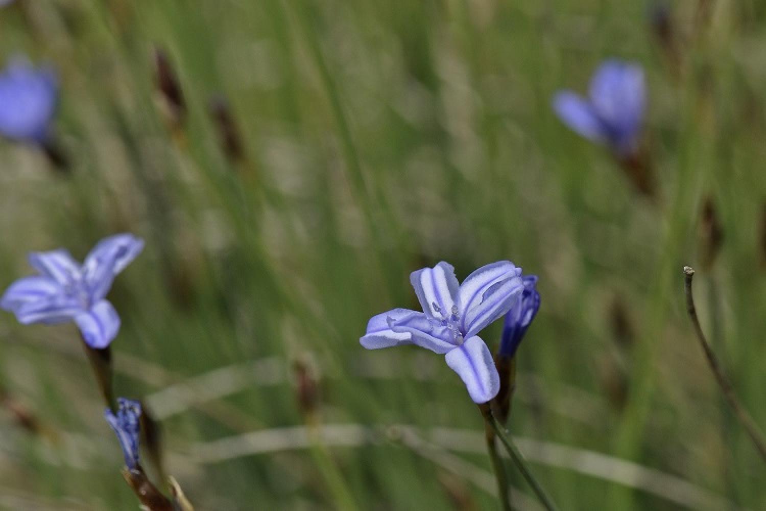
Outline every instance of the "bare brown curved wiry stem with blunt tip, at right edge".
<svg viewBox="0 0 766 511">
<path fill-rule="evenodd" d="M 689 317 L 692 318 L 692 325 L 694 326 L 694 331 L 697 335 L 697 339 L 699 340 L 699 344 L 702 346 L 702 351 L 705 352 L 705 359 L 708 359 L 708 365 L 710 366 L 713 375 L 715 375 L 715 381 L 718 382 L 719 387 L 721 387 L 728 405 L 732 407 L 732 410 L 734 410 L 738 421 L 740 424 L 742 424 L 742 427 L 745 428 L 745 431 L 750 436 L 751 441 L 758 449 L 758 453 L 761 454 L 761 457 L 764 459 L 764 461 L 766 461 L 766 441 L 764 441 L 763 434 L 761 434 L 761 430 L 758 429 L 758 425 L 755 424 L 753 418 L 750 416 L 748 411 L 745 410 L 745 407 L 742 405 L 741 401 L 739 401 L 731 380 L 728 379 L 728 376 L 723 371 L 718 357 L 715 356 L 715 353 L 710 347 L 707 339 L 705 339 L 705 334 L 702 333 L 702 327 L 699 325 L 697 310 L 694 306 L 694 296 L 692 295 L 692 278 L 694 277 L 694 268 L 685 266 L 683 267 L 683 273 L 686 276 L 686 310 L 689 312 Z"/>
</svg>

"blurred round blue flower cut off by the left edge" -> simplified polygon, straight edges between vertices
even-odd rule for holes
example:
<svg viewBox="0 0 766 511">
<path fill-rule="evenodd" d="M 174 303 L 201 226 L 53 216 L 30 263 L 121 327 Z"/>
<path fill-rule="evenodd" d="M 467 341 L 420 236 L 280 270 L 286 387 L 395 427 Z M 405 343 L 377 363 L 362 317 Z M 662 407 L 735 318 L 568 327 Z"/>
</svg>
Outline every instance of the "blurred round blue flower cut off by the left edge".
<svg viewBox="0 0 766 511">
<path fill-rule="evenodd" d="M 53 70 L 15 58 L 0 73 L 0 134 L 19 142 L 46 142 L 57 92 Z"/>
</svg>

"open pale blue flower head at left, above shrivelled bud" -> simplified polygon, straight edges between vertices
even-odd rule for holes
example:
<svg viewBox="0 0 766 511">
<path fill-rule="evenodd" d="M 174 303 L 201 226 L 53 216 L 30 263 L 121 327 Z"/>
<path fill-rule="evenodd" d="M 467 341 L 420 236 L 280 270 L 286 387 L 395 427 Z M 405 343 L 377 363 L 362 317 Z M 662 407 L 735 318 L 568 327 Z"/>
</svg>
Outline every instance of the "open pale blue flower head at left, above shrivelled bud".
<svg viewBox="0 0 766 511">
<path fill-rule="evenodd" d="M 119 274 L 143 249 L 133 234 L 116 234 L 99 241 L 85 262 L 77 264 L 68 251 L 29 254 L 39 275 L 12 283 L 0 307 L 19 323 L 55 325 L 74 320 L 88 346 L 103 349 L 117 336 L 119 316 L 106 293 Z"/>
</svg>

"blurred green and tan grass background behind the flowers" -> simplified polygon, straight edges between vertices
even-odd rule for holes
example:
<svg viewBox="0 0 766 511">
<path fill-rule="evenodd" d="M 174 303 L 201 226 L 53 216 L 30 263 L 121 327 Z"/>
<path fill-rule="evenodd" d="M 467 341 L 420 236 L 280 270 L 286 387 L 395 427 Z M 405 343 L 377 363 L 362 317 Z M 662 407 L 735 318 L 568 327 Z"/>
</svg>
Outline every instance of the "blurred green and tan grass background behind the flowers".
<svg viewBox="0 0 766 511">
<path fill-rule="evenodd" d="M 459 378 L 358 338 L 417 306 L 412 270 L 500 259 L 540 277 L 509 428 L 561 509 L 766 506 L 681 272 L 766 424 L 762 2 L 19 0 L 0 54 L 59 73 L 70 160 L 0 143 L 0 284 L 146 240 L 110 294 L 116 391 L 197 509 L 496 509 Z M 645 69 L 655 198 L 552 113 L 606 57 Z M 0 506 L 136 509 L 74 326 L 4 313 L 0 339 Z"/>
</svg>

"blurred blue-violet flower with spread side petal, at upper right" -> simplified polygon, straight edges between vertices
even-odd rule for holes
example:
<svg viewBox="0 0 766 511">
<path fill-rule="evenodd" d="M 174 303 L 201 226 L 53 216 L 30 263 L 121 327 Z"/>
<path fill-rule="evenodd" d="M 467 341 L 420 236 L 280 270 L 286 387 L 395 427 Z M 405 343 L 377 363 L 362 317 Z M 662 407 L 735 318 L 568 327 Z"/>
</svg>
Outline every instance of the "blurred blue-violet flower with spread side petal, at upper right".
<svg viewBox="0 0 766 511">
<path fill-rule="evenodd" d="M 638 64 L 611 59 L 596 70 L 589 97 L 571 90 L 555 95 L 559 118 L 581 136 L 609 146 L 619 156 L 638 148 L 647 90 Z"/>
</svg>

